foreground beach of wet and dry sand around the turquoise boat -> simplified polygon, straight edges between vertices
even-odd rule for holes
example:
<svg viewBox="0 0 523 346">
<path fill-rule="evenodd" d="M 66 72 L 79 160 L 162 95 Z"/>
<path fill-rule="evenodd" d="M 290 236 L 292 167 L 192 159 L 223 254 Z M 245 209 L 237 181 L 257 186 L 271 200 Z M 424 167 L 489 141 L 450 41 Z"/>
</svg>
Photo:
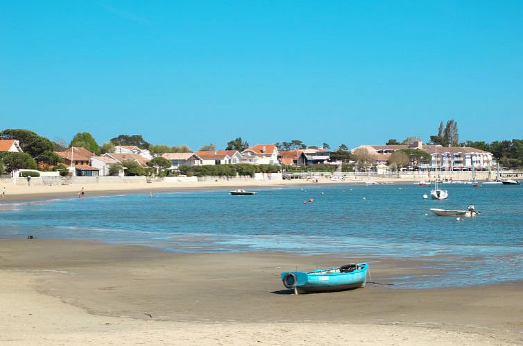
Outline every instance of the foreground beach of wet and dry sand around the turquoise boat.
<svg viewBox="0 0 523 346">
<path fill-rule="evenodd" d="M 0 241 L 3 345 L 518 345 L 523 283 L 295 296 L 279 278 L 363 258 L 173 254 L 77 240 Z M 372 279 L 422 270 L 364 258 Z M 147 314 L 151 315 L 147 315 Z"/>
</svg>

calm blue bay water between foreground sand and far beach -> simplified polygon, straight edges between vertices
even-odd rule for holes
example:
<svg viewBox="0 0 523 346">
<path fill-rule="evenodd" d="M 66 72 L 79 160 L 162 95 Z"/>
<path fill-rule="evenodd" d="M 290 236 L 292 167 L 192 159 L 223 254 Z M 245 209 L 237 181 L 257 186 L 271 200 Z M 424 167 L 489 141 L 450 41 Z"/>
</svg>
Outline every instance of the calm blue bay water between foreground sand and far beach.
<svg viewBox="0 0 523 346">
<path fill-rule="evenodd" d="M 425 200 L 409 185 L 307 186 L 158 193 L 0 204 L 0 237 L 91 239 L 173 252 L 282 251 L 422 258 L 440 274 L 395 278 L 397 287 L 463 286 L 523 279 L 523 186 L 445 184 Z M 314 199 L 314 203 L 303 204 Z M 458 222 L 429 208 L 482 215 Z M 426 215 L 428 214 L 428 215 Z"/>
</svg>

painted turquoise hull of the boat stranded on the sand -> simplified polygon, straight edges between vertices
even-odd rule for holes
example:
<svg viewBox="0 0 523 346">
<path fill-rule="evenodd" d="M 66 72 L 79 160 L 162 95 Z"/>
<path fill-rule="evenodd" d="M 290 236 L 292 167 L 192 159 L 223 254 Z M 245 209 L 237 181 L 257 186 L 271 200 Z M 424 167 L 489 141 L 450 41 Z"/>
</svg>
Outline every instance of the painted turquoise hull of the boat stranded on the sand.
<svg viewBox="0 0 523 346">
<path fill-rule="evenodd" d="M 337 290 L 351 290 L 353 288 L 364 287 L 367 283 L 367 263 L 360 263 L 359 269 L 352 272 L 334 272 L 322 274 L 329 270 L 314 270 L 313 272 L 283 272 L 281 274 L 284 281 L 286 274 L 295 276 L 295 288 L 305 293 L 332 292 Z M 288 286 L 286 286 L 288 287 Z"/>
</svg>

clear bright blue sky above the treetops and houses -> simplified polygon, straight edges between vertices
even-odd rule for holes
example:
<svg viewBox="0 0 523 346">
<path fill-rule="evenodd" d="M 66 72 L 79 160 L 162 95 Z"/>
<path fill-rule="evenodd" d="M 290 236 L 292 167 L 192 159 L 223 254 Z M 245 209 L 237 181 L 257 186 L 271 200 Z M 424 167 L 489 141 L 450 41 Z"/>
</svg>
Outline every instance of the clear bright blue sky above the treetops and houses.
<svg viewBox="0 0 523 346">
<path fill-rule="evenodd" d="M 0 129 L 332 147 L 523 137 L 523 1 L 1 1 Z"/>
</svg>

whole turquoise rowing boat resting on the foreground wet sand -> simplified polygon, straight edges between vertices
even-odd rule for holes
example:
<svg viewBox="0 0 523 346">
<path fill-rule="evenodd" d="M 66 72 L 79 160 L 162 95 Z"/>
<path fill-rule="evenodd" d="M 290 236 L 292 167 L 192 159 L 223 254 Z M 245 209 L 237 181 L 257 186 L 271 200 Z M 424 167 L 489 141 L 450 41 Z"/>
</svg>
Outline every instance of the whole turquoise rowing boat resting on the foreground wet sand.
<svg viewBox="0 0 523 346">
<path fill-rule="evenodd" d="M 367 263 L 358 263 L 312 272 L 282 272 L 281 277 L 284 286 L 293 288 L 297 295 L 364 287 L 367 283 L 367 270 Z"/>
</svg>

